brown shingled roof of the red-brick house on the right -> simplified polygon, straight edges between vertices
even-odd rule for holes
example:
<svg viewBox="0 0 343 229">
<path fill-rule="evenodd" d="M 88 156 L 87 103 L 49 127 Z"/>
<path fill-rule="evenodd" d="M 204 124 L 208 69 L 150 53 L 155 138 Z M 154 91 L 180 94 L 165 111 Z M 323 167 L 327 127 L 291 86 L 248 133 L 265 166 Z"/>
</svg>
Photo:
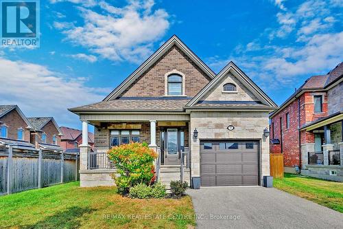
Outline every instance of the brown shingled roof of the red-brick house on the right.
<svg viewBox="0 0 343 229">
<path fill-rule="evenodd" d="M 270 118 L 274 117 L 279 111 L 283 110 L 289 102 L 292 102 L 297 96 L 300 96 L 300 94 L 303 94 L 304 91 L 308 90 L 320 90 L 320 89 L 327 89 L 331 85 L 338 83 L 339 80 L 342 80 L 343 78 L 343 62 L 338 64 L 334 69 L 332 69 L 328 74 L 326 75 L 319 75 L 319 76 L 311 76 L 307 80 L 305 80 L 305 83 L 299 87 L 294 93 L 283 102 L 279 109 L 276 109 L 276 111 L 270 113 Z"/>
</svg>

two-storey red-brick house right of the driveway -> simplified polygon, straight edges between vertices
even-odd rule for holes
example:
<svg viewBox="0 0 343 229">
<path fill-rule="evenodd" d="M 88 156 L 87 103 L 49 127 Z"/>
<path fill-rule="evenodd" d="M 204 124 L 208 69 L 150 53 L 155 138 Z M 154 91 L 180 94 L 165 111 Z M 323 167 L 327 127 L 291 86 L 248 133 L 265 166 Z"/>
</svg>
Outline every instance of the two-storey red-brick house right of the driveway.
<svg viewBox="0 0 343 229">
<path fill-rule="evenodd" d="M 271 114 L 270 152 L 283 153 L 286 172 L 300 168 L 343 180 L 342 75 L 340 63 L 326 75 L 312 76 Z"/>
</svg>

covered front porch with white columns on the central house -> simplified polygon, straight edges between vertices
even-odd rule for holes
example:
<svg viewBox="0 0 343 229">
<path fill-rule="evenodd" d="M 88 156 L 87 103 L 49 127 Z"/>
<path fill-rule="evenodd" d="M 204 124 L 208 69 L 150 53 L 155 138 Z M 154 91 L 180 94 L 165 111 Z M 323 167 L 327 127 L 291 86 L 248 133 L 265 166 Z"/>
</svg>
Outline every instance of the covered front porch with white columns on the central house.
<svg viewBox="0 0 343 229">
<path fill-rule="evenodd" d="M 95 127 L 94 152 L 86 142 L 88 124 Z M 155 161 L 158 181 L 167 186 L 171 180 L 180 179 L 190 184 L 189 120 L 83 120 L 82 127 L 81 186 L 114 185 L 110 175 L 116 172 L 115 164 L 108 160 L 107 151 L 130 142 L 146 142 L 158 153 Z"/>
</svg>

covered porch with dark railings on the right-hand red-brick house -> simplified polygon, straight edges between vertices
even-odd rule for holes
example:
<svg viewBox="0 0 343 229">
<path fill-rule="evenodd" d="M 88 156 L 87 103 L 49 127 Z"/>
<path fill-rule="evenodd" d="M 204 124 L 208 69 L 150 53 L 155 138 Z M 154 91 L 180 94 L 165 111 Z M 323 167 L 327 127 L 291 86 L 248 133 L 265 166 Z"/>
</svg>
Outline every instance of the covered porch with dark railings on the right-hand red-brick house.
<svg viewBox="0 0 343 229">
<path fill-rule="evenodd" d="M 300 129 L 303 175 L 343 182 L 342 114 L 318 120 Z"/>
</svg>

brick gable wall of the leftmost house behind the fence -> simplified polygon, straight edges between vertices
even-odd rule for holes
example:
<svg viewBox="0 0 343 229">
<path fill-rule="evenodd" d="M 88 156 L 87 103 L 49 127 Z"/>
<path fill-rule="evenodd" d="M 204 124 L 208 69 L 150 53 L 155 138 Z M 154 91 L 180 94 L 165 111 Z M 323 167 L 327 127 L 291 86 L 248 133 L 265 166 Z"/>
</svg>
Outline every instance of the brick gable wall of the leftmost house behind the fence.
<svg viewBox="0 0 343 229">
<path fill-rule="evenodd" d="M 15 109 L 1 117 L 0 121 L 3 122 L 2 124 L 5 124 L 8 127 L 8 138 L 17 140 L 18 129 L 23 128 L 24 140 L 29 142 L 29 130 L 26 129 L 27 123 L 23 120 L 23 118 L 21 118 Z"/>
</svg>

